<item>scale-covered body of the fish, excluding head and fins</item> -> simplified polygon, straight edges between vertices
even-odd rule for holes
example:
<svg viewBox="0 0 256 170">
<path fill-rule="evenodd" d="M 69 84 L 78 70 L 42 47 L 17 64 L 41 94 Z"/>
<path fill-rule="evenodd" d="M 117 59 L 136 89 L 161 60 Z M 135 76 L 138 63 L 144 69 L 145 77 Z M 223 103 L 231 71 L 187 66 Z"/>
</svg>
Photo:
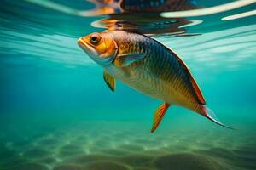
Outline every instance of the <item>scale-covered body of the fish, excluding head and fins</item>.
<svg viewBox="0 0 256 170">
<path fill-rule="evenodd" d="M 140 34 L 125 32 L 120 35 L 119 33 L 119 31 L 111 31 L 119 46 L 119 54 L 137 54 L 141 52 L 140 48 L 142 48 L 146 57 L 142 61 L 138 61 L 135 66 L 108 68 L 109 72 L 119 77 L 121 82 L 129 84 L 131 88 L 144 94 L 165 99 L 166 102 L 175 105 L 185 105 L 194 111 L 198 109 L 194 105 L 197 103 L 195 92 L 190 88 L 191 83 L 186 77 L 183 67 L 164 46 Z M 128 44 L 129 48 L 126 48 L 124 44 Z M 123 71 L 129 72 L 129 74 L 121 73 Z M 127 77 L 123 75 L 127 75 Z M 132 81 L 130 81 L 131 79 Z M 186 102 L 181 102 L 182 100 Z"/>
</svg>

